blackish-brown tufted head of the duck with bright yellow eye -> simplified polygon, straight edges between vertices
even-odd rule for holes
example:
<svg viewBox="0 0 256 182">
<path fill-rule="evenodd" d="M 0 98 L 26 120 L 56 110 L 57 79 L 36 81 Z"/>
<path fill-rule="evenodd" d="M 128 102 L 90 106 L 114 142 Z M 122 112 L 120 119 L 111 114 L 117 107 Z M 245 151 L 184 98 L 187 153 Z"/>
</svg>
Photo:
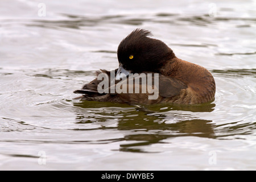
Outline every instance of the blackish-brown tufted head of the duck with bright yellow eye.
<svg viewBox="0 0 256 182">
<path fill-rule="evenodd" d="M 172 49 L 160 40 L 149 38 L 151 35 L 150 31 L 136 29 L 123 39 L 117 51 L 119 65 L 133 73 L 159 72 L 167 60 L 175 57 Z"/>
</svg>

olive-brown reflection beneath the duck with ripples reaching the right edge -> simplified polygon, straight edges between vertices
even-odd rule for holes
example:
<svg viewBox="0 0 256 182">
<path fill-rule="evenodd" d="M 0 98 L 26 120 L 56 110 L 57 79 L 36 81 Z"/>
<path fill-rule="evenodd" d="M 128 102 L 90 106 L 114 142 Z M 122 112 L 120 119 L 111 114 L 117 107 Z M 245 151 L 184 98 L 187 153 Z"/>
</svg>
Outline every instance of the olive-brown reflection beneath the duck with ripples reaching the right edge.
<svg viewBox="0 0 256 182">
<path fill-rule="evenodd" d="M 211 120 L 199 119 L 195 115 L 189 114 L 191 112 L 210 113 L 214 110 L 215 104 L 183 107 L 174 105 L 134 107 L 94 101 L 75 102 L 73 104 L 77 107 L 76 123 L 90 125 L 88 129 L 84 130 L 127 131 L 123 132 L 122 138 L 114 140 L 127 143 L 120 144 L 119 151 L 155 152 L 143 150 L 141 146 L 162 143 L 162 140 L 173 137 L 193 136 L 221 139 L 233 135 L 252 134 L 253 130 L 256 129 L 255 123 L 251 122 L 216 125 Z M 189 112 L 185 114 L 184 111 Z M 111 139 L 105 142 L 114 141 Z M 104 140 L 88 142 L 102 143 Z"/>
</svg>

